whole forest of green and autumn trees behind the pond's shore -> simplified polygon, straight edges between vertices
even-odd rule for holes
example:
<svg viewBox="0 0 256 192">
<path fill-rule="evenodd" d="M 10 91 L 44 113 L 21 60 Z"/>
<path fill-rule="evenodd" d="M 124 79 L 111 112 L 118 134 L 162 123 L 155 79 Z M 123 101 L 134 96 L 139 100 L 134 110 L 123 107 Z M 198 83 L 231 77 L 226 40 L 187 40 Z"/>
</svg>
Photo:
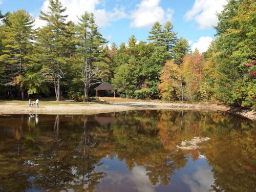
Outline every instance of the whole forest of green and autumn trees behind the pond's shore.
<svg viewBox="0 0 256 192">
<path fill-rule="evenodd" d="M 256 107 L 256 2 L 230 0 L 218 14 L 208 50 L 190 50 L 171 22 L 156 22 L 147 41 L 131 35 L 117 46 L 100 34 L 93 13 L 67 19 L 50 0 L 34 29 L 25 10 L 0 11 L 0 98 L 56 97 L 89 100 L 110 82 L 122 98 L 215 102 Z M 108 96 L 108 93 L 104 93 Z"/>
</svg>

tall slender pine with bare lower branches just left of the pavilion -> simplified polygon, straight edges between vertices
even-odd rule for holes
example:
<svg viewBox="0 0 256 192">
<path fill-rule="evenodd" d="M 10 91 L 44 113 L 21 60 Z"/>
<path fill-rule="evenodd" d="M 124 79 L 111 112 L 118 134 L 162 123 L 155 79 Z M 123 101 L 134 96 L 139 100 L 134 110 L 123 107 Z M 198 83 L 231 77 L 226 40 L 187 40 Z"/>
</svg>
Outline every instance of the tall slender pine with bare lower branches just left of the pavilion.
<svg viewBox="0 0 256 192">
<path fill-rule="evenodd" d="M 82 81 L 84 84 L 84 96 L 88 100 L 90 88 L 98 83 L 103 76 L 101 49 L 106 40 L 98 32 L 94 14 L 85 12 L 79 17 L 77 26 L 77 51 L 82 65 Z"/>
</svg>

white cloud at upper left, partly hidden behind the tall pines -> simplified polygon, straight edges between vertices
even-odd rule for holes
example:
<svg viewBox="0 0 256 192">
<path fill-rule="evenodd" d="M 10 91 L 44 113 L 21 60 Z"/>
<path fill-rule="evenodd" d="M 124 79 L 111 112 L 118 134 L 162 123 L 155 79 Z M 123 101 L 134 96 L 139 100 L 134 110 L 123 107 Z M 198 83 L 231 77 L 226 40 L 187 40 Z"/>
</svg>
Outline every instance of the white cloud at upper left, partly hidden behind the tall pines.
<svg viewBox="0 0 256 192">
<path fill-rule="evenodd" d="M 0 0 L 1 1 L 1 0 Z M 85 11 L 94 13 L 95 22 L 99 28 L 109 25 L 111 22 L 125 18 L 126 14 L 122 8 L 114 8 L 113 11 L 106 11 L 105 9 L 97 9 L 96 6 L 101 4 L 99 0 L 60 0 L 64 7 L 67 7 L 66 14 L 69 15 L 68 19 L 77 22 L 77 16 L 82 15 Z M 104 3 L 104 2 L 103 2 Z M 41 10 L 47 12 L 49 0 L 45 0 Z M 36 27 L 44 25 L 44 22 L 36 18 Z"/>
</svg>

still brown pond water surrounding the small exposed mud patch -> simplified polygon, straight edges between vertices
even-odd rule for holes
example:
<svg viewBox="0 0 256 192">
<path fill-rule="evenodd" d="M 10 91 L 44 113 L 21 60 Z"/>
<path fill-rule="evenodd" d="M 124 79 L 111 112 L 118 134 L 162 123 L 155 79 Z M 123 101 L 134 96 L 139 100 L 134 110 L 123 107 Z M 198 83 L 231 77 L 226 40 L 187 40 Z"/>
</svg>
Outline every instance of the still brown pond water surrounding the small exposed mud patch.
<svg viewBox="0 0 256 192">
<path fill-rule="evenodd" d="M 209 137 L 196 150 L 176 146 Z M 255 191 L 255 123 L 217 112 L 0 116 L 0 191 Z"/>
</svg>

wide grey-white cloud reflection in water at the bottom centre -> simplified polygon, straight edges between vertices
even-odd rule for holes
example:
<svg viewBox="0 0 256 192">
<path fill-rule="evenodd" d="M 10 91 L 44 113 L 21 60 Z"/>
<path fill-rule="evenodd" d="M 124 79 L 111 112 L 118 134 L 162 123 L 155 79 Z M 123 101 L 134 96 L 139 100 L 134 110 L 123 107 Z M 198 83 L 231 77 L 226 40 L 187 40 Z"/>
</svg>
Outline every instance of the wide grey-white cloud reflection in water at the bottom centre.
<svg viewBox="0 0 256 192">
<path fill-rule="evenodd" d="M 101 169 L 101 171 L 107 174 L 103 180 L 105 180 L 108 185 L 123 189 L 123 191 L 154 192 L 155 187 L 159 184 L 157 183 L 156 186 L 152 185 L 143 166 L 135 166 L 130 172 L 131 174 L 107 170 L 106 167 L 103 169 L 105 170 Z"/>
</svg>

